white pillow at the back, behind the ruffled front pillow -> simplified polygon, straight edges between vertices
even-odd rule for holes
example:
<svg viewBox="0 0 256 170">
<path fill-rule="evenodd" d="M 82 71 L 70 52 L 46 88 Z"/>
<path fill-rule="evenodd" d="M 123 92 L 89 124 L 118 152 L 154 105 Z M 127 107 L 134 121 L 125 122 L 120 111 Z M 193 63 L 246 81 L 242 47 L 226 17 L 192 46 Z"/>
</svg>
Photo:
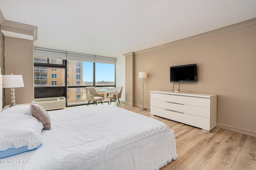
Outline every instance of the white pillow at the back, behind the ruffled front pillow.
<svg viewBox="0 0 256 170">
<path fill-rule="evenodd" d="M 6 115 L 6 114 L 31 115 L 31 112 L 30 112 L 29 105 L 18 105 L 18 106 L 9 107 L 8 109 L 5 109 L 4 111 L 0 112 L 0 116 Z"/>
</svg>

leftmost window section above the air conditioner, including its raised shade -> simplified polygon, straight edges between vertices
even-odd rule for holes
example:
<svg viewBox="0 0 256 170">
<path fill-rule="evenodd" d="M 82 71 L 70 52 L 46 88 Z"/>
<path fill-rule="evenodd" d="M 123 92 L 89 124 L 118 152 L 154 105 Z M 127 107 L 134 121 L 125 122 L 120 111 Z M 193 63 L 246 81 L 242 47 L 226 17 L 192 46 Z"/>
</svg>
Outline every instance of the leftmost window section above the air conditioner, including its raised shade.
<svg viewBox="0 0 256 170">
<path fill-rule="evenodd" d="M 66 95 L 66 52 L 34 47 L 34 98 Z"/>
</svg>

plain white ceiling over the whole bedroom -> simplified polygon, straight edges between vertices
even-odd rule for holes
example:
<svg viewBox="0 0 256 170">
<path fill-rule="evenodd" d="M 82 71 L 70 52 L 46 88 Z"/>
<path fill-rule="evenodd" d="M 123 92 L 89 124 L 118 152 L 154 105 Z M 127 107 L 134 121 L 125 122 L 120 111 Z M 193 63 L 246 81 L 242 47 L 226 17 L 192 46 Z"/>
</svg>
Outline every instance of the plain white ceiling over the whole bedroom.
<svg viewBox="0 0 256 170">
<path fill-rule="evenodd" d="M 256 0 L 0 0 L 0 10 L 38 27 L 35 47 L 122 57 L 256 18 Z"/>
</svg>

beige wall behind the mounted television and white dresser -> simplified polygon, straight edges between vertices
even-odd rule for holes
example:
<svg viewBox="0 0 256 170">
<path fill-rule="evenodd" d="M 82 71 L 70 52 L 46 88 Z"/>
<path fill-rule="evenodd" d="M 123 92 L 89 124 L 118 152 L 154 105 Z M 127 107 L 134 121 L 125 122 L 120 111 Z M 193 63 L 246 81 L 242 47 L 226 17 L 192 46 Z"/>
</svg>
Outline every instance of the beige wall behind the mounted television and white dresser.
<svg viewBox="0 0 256 170">
<path fill-rule="evenodd" d="M 170 66 L 196 63 L 198 82 L 180 84 L 180 90 L 217 94 L 218 127 L 256 136 L 256 19 L 163 47 L 135 53 L 136 106 L 142 105 L 138 72 L 148 73 L 144 105 L 150 108 L 150 90 L 172 91 Z"/>
</svg>

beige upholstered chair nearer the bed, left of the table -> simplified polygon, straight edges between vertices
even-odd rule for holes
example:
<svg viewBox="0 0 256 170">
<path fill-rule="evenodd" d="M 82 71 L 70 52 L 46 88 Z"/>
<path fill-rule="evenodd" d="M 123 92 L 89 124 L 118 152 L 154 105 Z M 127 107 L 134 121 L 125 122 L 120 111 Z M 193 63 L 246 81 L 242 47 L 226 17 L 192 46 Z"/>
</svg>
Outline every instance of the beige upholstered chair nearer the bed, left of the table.
<svg viewBox="0 0 256 170">
<path fill-rule="evenodd" d="M 89 105 L 90 101 L 93 102 L 93 105 L 95 103 L 97 105 L 97 101 L 100 101 L 102 104 L 102 100 L 104 100 L 103 93 L 98 93 L 95 87 L 86 87 L 85 91 L 86 91 L 86 100 L 88 100 L 88 105 Z"/>
</svg>

